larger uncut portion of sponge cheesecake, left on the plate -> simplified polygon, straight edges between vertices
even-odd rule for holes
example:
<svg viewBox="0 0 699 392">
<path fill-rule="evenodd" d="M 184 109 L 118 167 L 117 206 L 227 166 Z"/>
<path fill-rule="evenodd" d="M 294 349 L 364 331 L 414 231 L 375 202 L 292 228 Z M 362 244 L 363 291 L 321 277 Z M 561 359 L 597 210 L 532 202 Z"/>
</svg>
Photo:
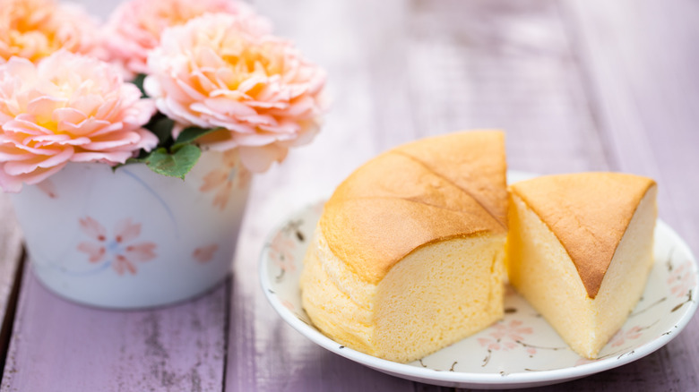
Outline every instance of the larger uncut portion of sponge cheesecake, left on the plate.
<svg viewBox="0 0 699 392">
<path fill-rule="evenodd" d="M 431 354 L 503 317 L 506 215 L 502 132 L 387 151 L 325 204 L 304 260 L 304 309 L 363 353 Z"/>
</svg>

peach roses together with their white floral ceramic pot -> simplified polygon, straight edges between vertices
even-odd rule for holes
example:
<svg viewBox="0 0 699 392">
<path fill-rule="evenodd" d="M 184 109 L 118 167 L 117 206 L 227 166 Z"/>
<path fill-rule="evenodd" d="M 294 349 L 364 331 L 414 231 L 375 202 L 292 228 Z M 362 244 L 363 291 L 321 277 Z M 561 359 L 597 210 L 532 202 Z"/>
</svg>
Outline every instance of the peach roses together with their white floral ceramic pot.
<svg viewBox="0 0 699 392">
<path fill-rule="evenodd" d="M 177 302 L 226 276 L 251 173 L 312 141 L 325 74 L 236 1 L 132 0 L 97 26 L 0 7 L 0 187 L 51 290 Z"/>
</svg>

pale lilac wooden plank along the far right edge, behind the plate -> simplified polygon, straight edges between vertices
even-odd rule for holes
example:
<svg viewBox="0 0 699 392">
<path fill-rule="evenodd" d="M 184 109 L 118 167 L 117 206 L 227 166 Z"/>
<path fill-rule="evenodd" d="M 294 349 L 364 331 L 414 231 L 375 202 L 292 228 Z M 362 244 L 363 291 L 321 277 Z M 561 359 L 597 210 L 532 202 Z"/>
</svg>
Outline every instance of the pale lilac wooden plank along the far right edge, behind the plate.
<svg viewBox="0 0 699 392">
<path fill-rule="evenodd" d="M 613 167 L 654 177 L 660 217 L 699 251 L 699 4 L 569 2 L 592 110 Z M 658 352 L 591 378 L 595 390 L 699 389 L 699 319 Z M 574 390 L 582 390 L 574 389 Z"/>
</svg>

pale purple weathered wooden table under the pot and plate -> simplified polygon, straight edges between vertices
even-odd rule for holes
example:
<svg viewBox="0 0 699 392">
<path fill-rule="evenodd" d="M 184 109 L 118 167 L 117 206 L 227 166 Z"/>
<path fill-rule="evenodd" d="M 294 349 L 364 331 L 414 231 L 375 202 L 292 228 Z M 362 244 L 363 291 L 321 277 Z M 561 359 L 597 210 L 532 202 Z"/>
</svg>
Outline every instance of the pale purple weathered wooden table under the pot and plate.
<svg viewBox="0 0 699 392">
<path fill-rule="evenodd" d="M 88 0 L 83 0 L 88 4 Z M 115 1 L 88 4 L 106 14 Z M 47 291 L 22 263 L 0 196 L 2 392 L 387 391 L 437 388 L 326 352 L 272 311 L 263 238 L 367 158 L 419 137 L 507 131 L 509 166 L 616 170 L 660 183 L 660 217 L 699 251 L 699 3 L 689 0 L 259 0 L 276 32 L 330 74 L 315 142 L 255 178 L 234 274 L 189 303 L 101 311 Z M 539 388 L 699 390 L 699 320 L 626 366 Z"/>
</svg>

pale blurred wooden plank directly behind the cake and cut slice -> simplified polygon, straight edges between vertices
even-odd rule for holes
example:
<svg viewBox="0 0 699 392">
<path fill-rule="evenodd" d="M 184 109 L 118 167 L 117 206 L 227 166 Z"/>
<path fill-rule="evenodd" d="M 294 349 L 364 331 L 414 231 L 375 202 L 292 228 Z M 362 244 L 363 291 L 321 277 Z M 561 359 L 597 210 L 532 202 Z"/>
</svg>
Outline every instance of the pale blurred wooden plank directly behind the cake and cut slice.
<svg viewBox="0 0 699 392">
<path fill-rule="evenodd" d="M 607 169 L 556 4 L 413 1 L 403 115 L 421 135 L 504 129 L 515 170 Z"/>
</svg>

